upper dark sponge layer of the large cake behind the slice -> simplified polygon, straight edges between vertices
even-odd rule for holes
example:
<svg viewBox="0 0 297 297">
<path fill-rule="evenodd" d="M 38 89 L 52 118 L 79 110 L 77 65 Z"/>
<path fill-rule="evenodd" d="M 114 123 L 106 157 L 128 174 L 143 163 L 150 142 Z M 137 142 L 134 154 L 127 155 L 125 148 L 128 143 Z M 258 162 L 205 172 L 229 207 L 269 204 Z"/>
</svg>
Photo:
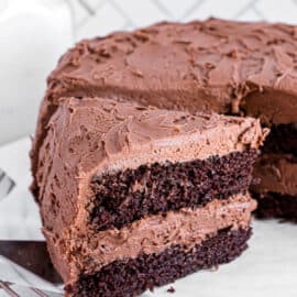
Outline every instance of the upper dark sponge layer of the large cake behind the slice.
<svg viewBox="0 0 297 297">
<path fill-rule="evenodd" d="M 266 154 L 293 154 L 297 156 L 297 122 L 273 125 L 262 151 Z"/>
</svg>

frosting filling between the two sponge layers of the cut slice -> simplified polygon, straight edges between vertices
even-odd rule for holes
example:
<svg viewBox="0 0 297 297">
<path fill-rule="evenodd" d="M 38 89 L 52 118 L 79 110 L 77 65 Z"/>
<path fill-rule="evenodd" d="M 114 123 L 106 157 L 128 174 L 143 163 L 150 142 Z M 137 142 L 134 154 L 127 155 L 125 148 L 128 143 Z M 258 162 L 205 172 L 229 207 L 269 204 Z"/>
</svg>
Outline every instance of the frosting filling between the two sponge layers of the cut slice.
<svg viewBox="0 0 297 297">
<path fill-rule="evenodd" d="M 148 216 L 120 230 L 90 232 L 80 238 L 76 261 L 87 271 L 98 271 L 113 261 L 135 258 L 140 253 L 157 254 L 172 245 L 191 249 L 221 229 L 248 228 L 255 206 L 249 194 L 239 194 L 198 209 Z"/>
</svg>

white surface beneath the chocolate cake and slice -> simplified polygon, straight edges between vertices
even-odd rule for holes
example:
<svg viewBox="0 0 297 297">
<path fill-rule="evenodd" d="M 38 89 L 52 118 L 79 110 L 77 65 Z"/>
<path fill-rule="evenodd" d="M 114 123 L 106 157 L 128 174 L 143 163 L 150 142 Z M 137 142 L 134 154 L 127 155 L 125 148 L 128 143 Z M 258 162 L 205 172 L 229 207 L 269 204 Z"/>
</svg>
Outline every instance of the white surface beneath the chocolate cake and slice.
<svg viewBox="0 0 297 297">
<path fill-rule="evenodd" d="M 0 239 L 42 239 L 37 208 L 28 190 L 30 145 L 26 138 L 0 147 L 0 167 L 16 182 L 14 190 L 0 202 Z M 217 272 L 200 272 L 176 282 L 173 295 L 166 286 L 144 297 L 296 297 L 296 276 L 297 226 L 254 221 L 250 249 L 240 258 Z M 1 257 L 0 279 L 57 290 Z M 7 295 L 0 289 L 1 296 Z"/>
</svg>

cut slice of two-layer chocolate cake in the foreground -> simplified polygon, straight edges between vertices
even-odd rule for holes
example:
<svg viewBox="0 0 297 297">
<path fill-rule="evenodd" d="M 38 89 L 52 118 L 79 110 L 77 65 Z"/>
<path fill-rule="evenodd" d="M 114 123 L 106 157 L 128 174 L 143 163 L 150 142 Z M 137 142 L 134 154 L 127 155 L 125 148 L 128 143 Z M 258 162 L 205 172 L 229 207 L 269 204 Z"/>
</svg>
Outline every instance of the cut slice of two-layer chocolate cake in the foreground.
<svg viewBox="0 0 297 297">
<path fill-rule="evenodd" d="M 136 296 L 246 249 L 258 120 L 61 102 L 35 177 L 66 295 Z"/>
</svg>

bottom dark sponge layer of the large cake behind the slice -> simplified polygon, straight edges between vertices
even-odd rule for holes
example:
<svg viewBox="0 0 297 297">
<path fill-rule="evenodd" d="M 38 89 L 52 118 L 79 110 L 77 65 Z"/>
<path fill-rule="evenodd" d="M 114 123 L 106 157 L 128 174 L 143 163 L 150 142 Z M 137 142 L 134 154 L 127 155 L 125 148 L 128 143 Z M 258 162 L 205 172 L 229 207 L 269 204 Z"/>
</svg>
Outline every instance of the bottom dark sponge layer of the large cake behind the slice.
<svg viewBox="0 0 297 297">
<path fill-rule="evenodd" d="M 257 200 L 255 216 L 260 219 L 278 218 L 292 222 L 297 222 L 297 195 L 279 193 L 253 193 Z"/>
</svg>

